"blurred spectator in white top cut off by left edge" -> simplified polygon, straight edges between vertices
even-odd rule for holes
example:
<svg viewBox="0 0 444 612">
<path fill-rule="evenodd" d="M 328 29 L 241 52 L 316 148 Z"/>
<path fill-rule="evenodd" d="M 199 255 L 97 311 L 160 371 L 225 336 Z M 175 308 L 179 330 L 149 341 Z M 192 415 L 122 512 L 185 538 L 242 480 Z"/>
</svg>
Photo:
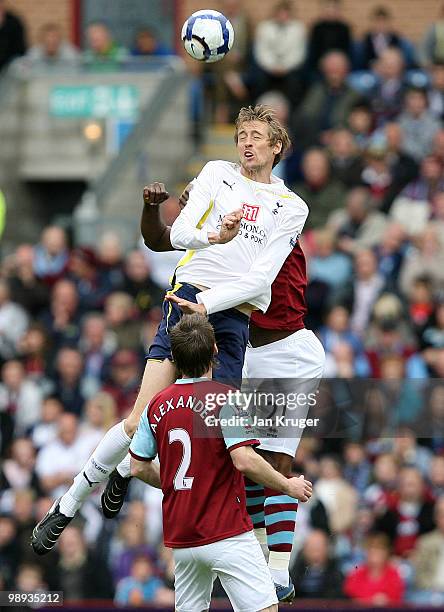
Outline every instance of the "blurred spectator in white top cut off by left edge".
<svg viewBox="0 0 444 612">
<path fill-rule="evenodd" d="M 11 300 L 7 281 L 0 279 L 0 359 L 18 354 L 18 344 L 29 325 L 25 310 Z"/>
</svg>

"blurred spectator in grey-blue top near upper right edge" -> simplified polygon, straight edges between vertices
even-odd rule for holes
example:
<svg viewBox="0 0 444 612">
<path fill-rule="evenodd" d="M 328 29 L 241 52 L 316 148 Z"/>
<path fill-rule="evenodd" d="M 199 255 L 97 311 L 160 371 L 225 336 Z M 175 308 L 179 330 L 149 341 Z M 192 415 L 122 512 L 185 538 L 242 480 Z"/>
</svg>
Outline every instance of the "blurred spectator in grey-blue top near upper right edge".
<svg viewBox="0 0 444 612">
<path fill-rule="evenodd" d="M 415 161 L 420 161 L 432 152 L 433 139 L 440 128 L 440 122 L 428 110 L 425 90 L 407 91 L 399 125 L 403 133 L 403 150 Z"/>
</svg>

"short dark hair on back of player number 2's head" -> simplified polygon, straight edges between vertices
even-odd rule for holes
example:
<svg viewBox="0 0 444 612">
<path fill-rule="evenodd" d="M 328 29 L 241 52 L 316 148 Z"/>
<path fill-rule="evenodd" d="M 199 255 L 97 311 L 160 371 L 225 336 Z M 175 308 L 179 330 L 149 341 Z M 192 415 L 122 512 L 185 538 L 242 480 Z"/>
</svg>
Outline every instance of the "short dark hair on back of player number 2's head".
<svg viewBox="0 0 444 612">
<path fill-rule="evenodd" d="M 181 376 L 199 378 L 213 365 L 214 329 L 207 317 L 184 315 L 170 332 L 171 353 Z"/>
</svg>

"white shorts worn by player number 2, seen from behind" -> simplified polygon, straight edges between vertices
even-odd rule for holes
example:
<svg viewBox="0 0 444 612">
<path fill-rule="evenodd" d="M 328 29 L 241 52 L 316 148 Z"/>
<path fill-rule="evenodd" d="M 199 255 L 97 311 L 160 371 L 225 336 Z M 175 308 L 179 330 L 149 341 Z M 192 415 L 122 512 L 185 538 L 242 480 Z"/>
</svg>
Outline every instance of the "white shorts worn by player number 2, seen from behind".
<svg viewBox="0 0 444 612">
<path fill-rule="evenodd" d="M 278 603 L 264 554 L 253 531 L 193 548 L 173 549 L 176 612 L 208 610 L 216 576 L 235 612 Z"/>
</svg>

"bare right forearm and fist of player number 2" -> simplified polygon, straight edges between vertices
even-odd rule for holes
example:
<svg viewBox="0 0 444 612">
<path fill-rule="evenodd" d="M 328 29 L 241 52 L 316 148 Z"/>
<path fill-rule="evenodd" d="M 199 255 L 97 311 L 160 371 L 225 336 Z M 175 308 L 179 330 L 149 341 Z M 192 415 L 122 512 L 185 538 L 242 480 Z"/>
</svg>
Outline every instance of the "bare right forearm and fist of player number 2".
<svg viewBox="0 0 444 612">
<path fill-rule="evenodd" d="M 312 484 L 304 476 L 286 478 L 277 472 L 251 446 L 240 446 L 230 451 L 234 467 L 247 478 L 264 487 L 282 491 L 301 502 L 306 502 L 312 495 Z"/>
</svg>

